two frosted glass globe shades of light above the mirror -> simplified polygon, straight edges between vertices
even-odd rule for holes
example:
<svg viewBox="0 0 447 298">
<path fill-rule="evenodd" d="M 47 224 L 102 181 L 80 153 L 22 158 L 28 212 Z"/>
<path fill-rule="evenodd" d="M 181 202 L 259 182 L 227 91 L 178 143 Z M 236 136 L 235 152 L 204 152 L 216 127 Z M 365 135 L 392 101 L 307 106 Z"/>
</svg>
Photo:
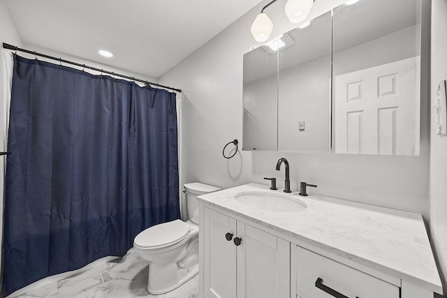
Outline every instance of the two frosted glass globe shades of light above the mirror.
<svg viewBox="0 0 447 298">
<path fill-rule="evenodd" d="M 253 35 L 254 39 L 259 43 L 268 40 L 268 38 L 270 37 L 270 33 L 272 33 L 273 22 L 272 20 L 270 20 L 270 17 L 268 17 L 268 15 L 264 13 L 264 10 L 265 8 L 268 8 L 270 5 L 272 5 L 272 3 L 276 1 L 277 0 L 273 0 L 269 2 L 266 6 L 264 6 L 263 9 L 261 9 L 261 13 L 258 14 L 253 24 L 251 24 L 251 34 Z M 288 0 L 286 2 L 285 7 L 288 20 L 290 20 L 293 23 L 299 23 L 304 21 L 307 15 L 309 15 L 309 12 L 312 9 L 312 6 L 314 5 L 314 1 L 315 0 Z"/>
</svg>

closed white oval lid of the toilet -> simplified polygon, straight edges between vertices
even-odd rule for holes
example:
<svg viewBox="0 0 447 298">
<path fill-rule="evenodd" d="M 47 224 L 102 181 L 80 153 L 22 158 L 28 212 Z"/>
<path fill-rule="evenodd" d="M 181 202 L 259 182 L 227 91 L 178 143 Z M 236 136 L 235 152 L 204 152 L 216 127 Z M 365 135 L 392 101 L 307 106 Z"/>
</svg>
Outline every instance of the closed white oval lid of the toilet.
<svg viewBox="0 0 447 298">
<path fill-rule="evenodd" d="M 133 243 L 145 248 L 165 246 L 184 239 L 188 233 L 189 225 L 176 219 L 147 228 L 135 237 Z"/>
</svg>

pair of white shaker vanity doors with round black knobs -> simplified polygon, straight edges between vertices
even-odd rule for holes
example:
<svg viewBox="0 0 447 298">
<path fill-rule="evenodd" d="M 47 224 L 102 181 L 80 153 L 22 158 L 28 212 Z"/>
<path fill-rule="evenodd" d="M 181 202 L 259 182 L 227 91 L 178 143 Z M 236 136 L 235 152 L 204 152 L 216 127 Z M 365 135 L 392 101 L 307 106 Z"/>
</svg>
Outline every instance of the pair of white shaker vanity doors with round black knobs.
<svg viewBox="0 0 447 298">
<path fill-rule="evenodd" d="M 290 242 L 203 207 L 203 295 L 290 297 Z"/>
</svg>

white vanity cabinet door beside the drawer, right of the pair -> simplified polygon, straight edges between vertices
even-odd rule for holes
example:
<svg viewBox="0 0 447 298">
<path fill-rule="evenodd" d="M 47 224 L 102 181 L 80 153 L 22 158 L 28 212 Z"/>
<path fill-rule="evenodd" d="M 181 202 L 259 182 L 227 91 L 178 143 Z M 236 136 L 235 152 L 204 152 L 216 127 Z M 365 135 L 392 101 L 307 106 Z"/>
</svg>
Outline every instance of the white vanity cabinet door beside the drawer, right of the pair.
<svg viewBox="0 0 447 298">
<path fill-rule="evenodd" d="M 290 297 L 290 242 L 237 222 L 237 298 Z"/>
</svg>

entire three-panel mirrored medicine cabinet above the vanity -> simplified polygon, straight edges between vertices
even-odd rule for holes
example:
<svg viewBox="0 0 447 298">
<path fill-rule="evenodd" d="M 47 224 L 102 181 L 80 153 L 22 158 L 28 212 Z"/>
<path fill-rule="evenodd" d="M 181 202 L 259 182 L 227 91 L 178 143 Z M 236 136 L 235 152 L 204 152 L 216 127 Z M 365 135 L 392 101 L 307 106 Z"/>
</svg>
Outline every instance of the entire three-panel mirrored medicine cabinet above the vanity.
<svg viewBox="0 0 447 298">
<path fill-rule="evenodd" d="M 421 6 L 341 5 L 244 54 L 243 149 L 419 155 Z"/>
</svg>

